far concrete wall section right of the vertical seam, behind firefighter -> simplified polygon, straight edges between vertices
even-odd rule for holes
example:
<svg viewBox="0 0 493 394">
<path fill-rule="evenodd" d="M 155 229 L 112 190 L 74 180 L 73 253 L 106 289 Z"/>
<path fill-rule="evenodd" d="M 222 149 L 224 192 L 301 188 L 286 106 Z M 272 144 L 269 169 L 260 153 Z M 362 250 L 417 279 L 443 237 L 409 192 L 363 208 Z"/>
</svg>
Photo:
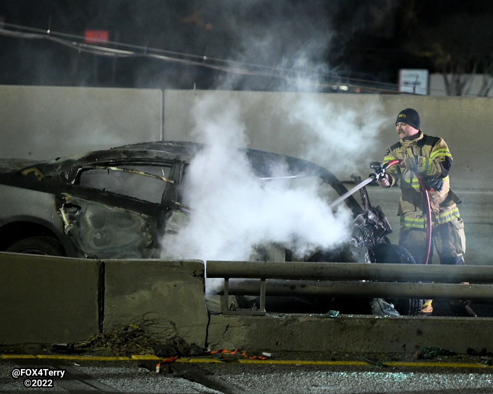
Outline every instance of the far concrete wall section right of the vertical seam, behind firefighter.
<svg viewBox="0 0 493 394">
<path fill-rule="evenodd" d="M 411 107 L 420 114 L 425 133 L 447 141 L 454 156 L 452 187 L 493 189 L 492 165 L 488 160 L 493 150 L 493 98 L 166 90 L 164 139 L 199 139 L 193 130 L 201 125 L 197 125 L 192 114 L 195 106 L 204 102 L 208 102 L 211 114 L 227 116 L 231 116 L 228 106 L 237 103 L 236 118 L 245 126 L 249 147 L 310 159 L 329 168 L 340 179 L 349 179 L 354 171 L 366 175 L 370 161 L 383 159 L 386 147 L 397 141 L 397 114 Z M 361 129 L 372 127 L 378 123 L 376 119 L 381 126 L 361 138 L 351 155 L 337 156 L 337 151 L 330 149 L 329 145 L 346 143 L 347 133 L 341 131 L 339 140 L 332 138 L 327 143 L 327 155 L 314 157 L 309 143 L 314 135 L 310 126 L 290 116 L 302 105 L 333 111 L 334 119 L 330 114 L 325 118 L 328 128 L 331 121 L 342 127 L 344 117 L 348 124 Z"/>
</svg>

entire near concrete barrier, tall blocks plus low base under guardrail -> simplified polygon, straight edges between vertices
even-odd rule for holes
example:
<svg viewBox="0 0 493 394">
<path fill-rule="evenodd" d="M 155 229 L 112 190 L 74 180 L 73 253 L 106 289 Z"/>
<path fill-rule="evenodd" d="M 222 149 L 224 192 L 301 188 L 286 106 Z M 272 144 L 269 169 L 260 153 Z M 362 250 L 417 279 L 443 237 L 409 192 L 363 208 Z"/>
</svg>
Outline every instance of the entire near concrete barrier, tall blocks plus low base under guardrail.
<svg viewBox="0 0 493 394">
<path fill-rule="evenodd" d="M 82 260 L 0 253 L 0 344 L 70 343 L 154 320 L 163 342 L 266 352 L 491 349 L 491 318 L 207 313 L 200 261 Z M 461 338 L 460 341 L 457 338 Z"/>
</svg>

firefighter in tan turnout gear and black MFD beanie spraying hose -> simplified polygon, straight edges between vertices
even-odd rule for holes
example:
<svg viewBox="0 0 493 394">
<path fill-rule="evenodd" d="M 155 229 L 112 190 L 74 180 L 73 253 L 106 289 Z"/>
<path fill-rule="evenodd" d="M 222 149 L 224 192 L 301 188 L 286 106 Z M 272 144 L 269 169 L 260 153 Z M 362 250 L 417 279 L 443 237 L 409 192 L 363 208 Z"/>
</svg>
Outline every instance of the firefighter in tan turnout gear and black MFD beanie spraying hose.
<svg viewBox="0 0 493 394">
<path fill-rule="evenodd" d="M 378 180 L 382 187 L 400 183 L 401 198 L 398 215 L 401 228 L 399 245 L 406 248 L 416 263 L 423 264 L 433 256 L 433 246 L 428 256 L 426 211 L 417 172 L 427 184 L 432 214 L 432 240 L 441 264 L 463 265 L 466 251 L 464 222 L 457 204 L 461 200 L 450 189 L 449 172 L 452 154 L 443 138 L 424 134 L 420 129 L 419 114 L 406 108 L 397 115 L 395 128 L 399 141 L 387 148 L 384 164 L 401 159 L 399 164 L 387 169 Z M 476 317 L 470 301 L 454 300 L 451 309 L 459 316 Z M 432 300 L 424 300 L 422 314 L 431 315 Z"/>
</svg>

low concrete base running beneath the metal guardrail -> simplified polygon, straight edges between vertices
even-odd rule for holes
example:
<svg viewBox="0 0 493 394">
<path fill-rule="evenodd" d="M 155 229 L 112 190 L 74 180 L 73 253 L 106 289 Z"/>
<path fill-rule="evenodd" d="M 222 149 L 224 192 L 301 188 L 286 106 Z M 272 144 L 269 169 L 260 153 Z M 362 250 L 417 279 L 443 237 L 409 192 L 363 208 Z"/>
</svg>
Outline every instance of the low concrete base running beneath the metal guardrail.
<svg viewBox="0 0 493 394">
<path fill-rule="evenodd" d="M 421 347 L 466 354 L 490 349 L 491 318 L 324 315 L 211 315 L 213 349 L 267 352 L 415 353 Z M 268 335 L 266 335 L 268 333 Z"/>
</svg>

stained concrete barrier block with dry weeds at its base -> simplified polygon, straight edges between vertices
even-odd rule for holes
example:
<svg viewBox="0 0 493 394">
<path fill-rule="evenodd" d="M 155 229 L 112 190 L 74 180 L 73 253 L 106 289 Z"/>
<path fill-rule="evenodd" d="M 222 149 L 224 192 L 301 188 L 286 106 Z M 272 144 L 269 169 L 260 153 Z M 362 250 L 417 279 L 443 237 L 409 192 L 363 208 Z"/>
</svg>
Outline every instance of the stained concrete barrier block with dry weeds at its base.
<svg viewBox="0 0 493 394">
<path fill-rule="evenodd" d="M 105 262 L 104 330 L 140 317 L 166 338 L 205 346 L 208 323 L 201 261 Z"/>
</svg>

